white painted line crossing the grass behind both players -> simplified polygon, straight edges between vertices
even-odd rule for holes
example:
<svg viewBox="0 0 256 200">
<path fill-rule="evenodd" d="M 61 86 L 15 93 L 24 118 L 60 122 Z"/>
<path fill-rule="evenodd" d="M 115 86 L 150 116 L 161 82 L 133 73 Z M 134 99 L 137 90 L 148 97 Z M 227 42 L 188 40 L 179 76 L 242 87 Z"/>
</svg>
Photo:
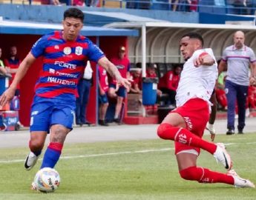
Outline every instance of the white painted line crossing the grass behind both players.
<svg viewBox="0 0 256 200">
<path fill-rule="evenodd" d="M 235 145 L 235 144 L 239 144 L 239 143 L 225 143 L 226 146 Z M 256 141 L 246 142 L 244 144 L 256 144 Z M 92 157 L 99 157 L 99 156 L 116 156 L 116 155 L 131 154 L 131 153 L 160 152 L 160 151 L 168 151 L 168 150 L 174 150 L 174 148 L 163 148 L 163 149 L 154 149 L 154 150 L 123 151 L 123 152 L 116 152 L 116 153 L 99 153 L 99 154 L 89 154 L 89 155 L 79 155 L 79 156 L 61 156 L 60 159 L 80 159 L 80 158 L 92 158 Z M 22 160 L 17 159 L 17 160 L 0 161 L 0 164 L 1 163 L 3 163 L 3 164 L 4 163 L 13 163 L 13 162 L 24 162 L 24 159 L 22 159 Z"/>
</svg>

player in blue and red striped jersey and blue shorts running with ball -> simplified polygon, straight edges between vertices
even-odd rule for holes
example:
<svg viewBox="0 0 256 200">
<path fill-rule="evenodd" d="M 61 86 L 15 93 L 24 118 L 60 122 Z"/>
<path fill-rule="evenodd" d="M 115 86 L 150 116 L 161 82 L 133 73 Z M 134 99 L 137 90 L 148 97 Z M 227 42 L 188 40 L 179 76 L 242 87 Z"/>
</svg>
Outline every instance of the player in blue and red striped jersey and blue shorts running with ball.
<svg viewBox="0 0 256 200">
<path fill-rule="evenodd" d="M 35 86 L 35 96 L 30 113 L 30 153 L 24 163 L 26 170 L 35 164 L 50 133 L 50 144 L 45 151 L 43 167 L 53 168 L 62 153 L 66 136 L 72 130 L 73 113 L 76 108 L 76 87 L 88 60 L 104 67 L 117 83 L 130 87 L 122 78 L 116 66 L 109 61 L 102 50 L 85 36 L 79 34 L 84 14 L 75 7 L 65 10 L 63 30 L 42 36 L 31 48 L 10 87 L 0 98 L 4 106 L 13 98 L 19 81 L 31 64 L 40 56 L 43 65 Z"/>
</svg>

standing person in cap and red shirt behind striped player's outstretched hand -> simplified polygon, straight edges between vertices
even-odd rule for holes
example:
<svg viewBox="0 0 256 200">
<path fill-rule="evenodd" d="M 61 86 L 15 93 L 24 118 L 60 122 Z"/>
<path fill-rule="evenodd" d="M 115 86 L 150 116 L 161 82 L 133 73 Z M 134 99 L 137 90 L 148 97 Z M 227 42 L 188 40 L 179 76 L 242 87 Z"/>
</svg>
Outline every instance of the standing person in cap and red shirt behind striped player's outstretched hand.
<svg viewBox="0 0 256 200">
<path fill-rule="evenodd" d="M 130 78 L 130 61 L 125 56 L 125 47 L 119 47 L 118 56 L 111 59 L 112 63 L 116 65 L 119 73 L 121 74 L 122 78 L 129 79 Z M 114 121 L 116 123 L 120 123 L 120 112 L 122 109 L 122 102 L 126 96 L 126 89 L 123 85 L 117 85 L 116 79 L 109 77 L 109 90 L 108 96 L 111 98 L 116 99 L 116 109 L 114 113 Z"/>
</svg>

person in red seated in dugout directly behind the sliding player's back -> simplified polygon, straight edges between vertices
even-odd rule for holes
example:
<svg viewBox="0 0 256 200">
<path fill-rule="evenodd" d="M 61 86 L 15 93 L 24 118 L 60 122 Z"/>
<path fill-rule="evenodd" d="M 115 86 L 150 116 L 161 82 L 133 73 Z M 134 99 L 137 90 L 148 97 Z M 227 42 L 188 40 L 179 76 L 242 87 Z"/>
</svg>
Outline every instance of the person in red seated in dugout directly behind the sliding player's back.
<svg viewBox="0 0 256 200">
<path fill-rule="evenodd" d="M 180 73 L 182 67 L 177 65 L 173 70 L 169 70 L 165 75 L 160 79 L 158 88 L 163 92 L 167 93 L 169 96 L 169 102 L 172 105 L 176 104 L 175 96 L 176 90 L 180 81 Z"/>
</svg>

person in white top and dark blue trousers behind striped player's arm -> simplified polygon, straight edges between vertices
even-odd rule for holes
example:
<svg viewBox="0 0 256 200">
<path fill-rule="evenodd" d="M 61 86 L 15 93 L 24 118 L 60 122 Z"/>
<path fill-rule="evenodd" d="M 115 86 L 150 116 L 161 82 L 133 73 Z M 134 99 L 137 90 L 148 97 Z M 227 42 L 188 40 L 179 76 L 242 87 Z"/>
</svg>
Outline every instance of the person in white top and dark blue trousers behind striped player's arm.
<svg viewBox="0 0 256 200">
<path fill-rule="evenodd" d="M 78 97 L 76 98 L 76 125 L 82 127 L 82 124 L 91 125 L 86 119 L 87 104 L 90 96 L 91 86 L 93 84 L 93 70 L 90 61 L 87 62 L 83 76 L 78 82 Z"/>
</svg>

